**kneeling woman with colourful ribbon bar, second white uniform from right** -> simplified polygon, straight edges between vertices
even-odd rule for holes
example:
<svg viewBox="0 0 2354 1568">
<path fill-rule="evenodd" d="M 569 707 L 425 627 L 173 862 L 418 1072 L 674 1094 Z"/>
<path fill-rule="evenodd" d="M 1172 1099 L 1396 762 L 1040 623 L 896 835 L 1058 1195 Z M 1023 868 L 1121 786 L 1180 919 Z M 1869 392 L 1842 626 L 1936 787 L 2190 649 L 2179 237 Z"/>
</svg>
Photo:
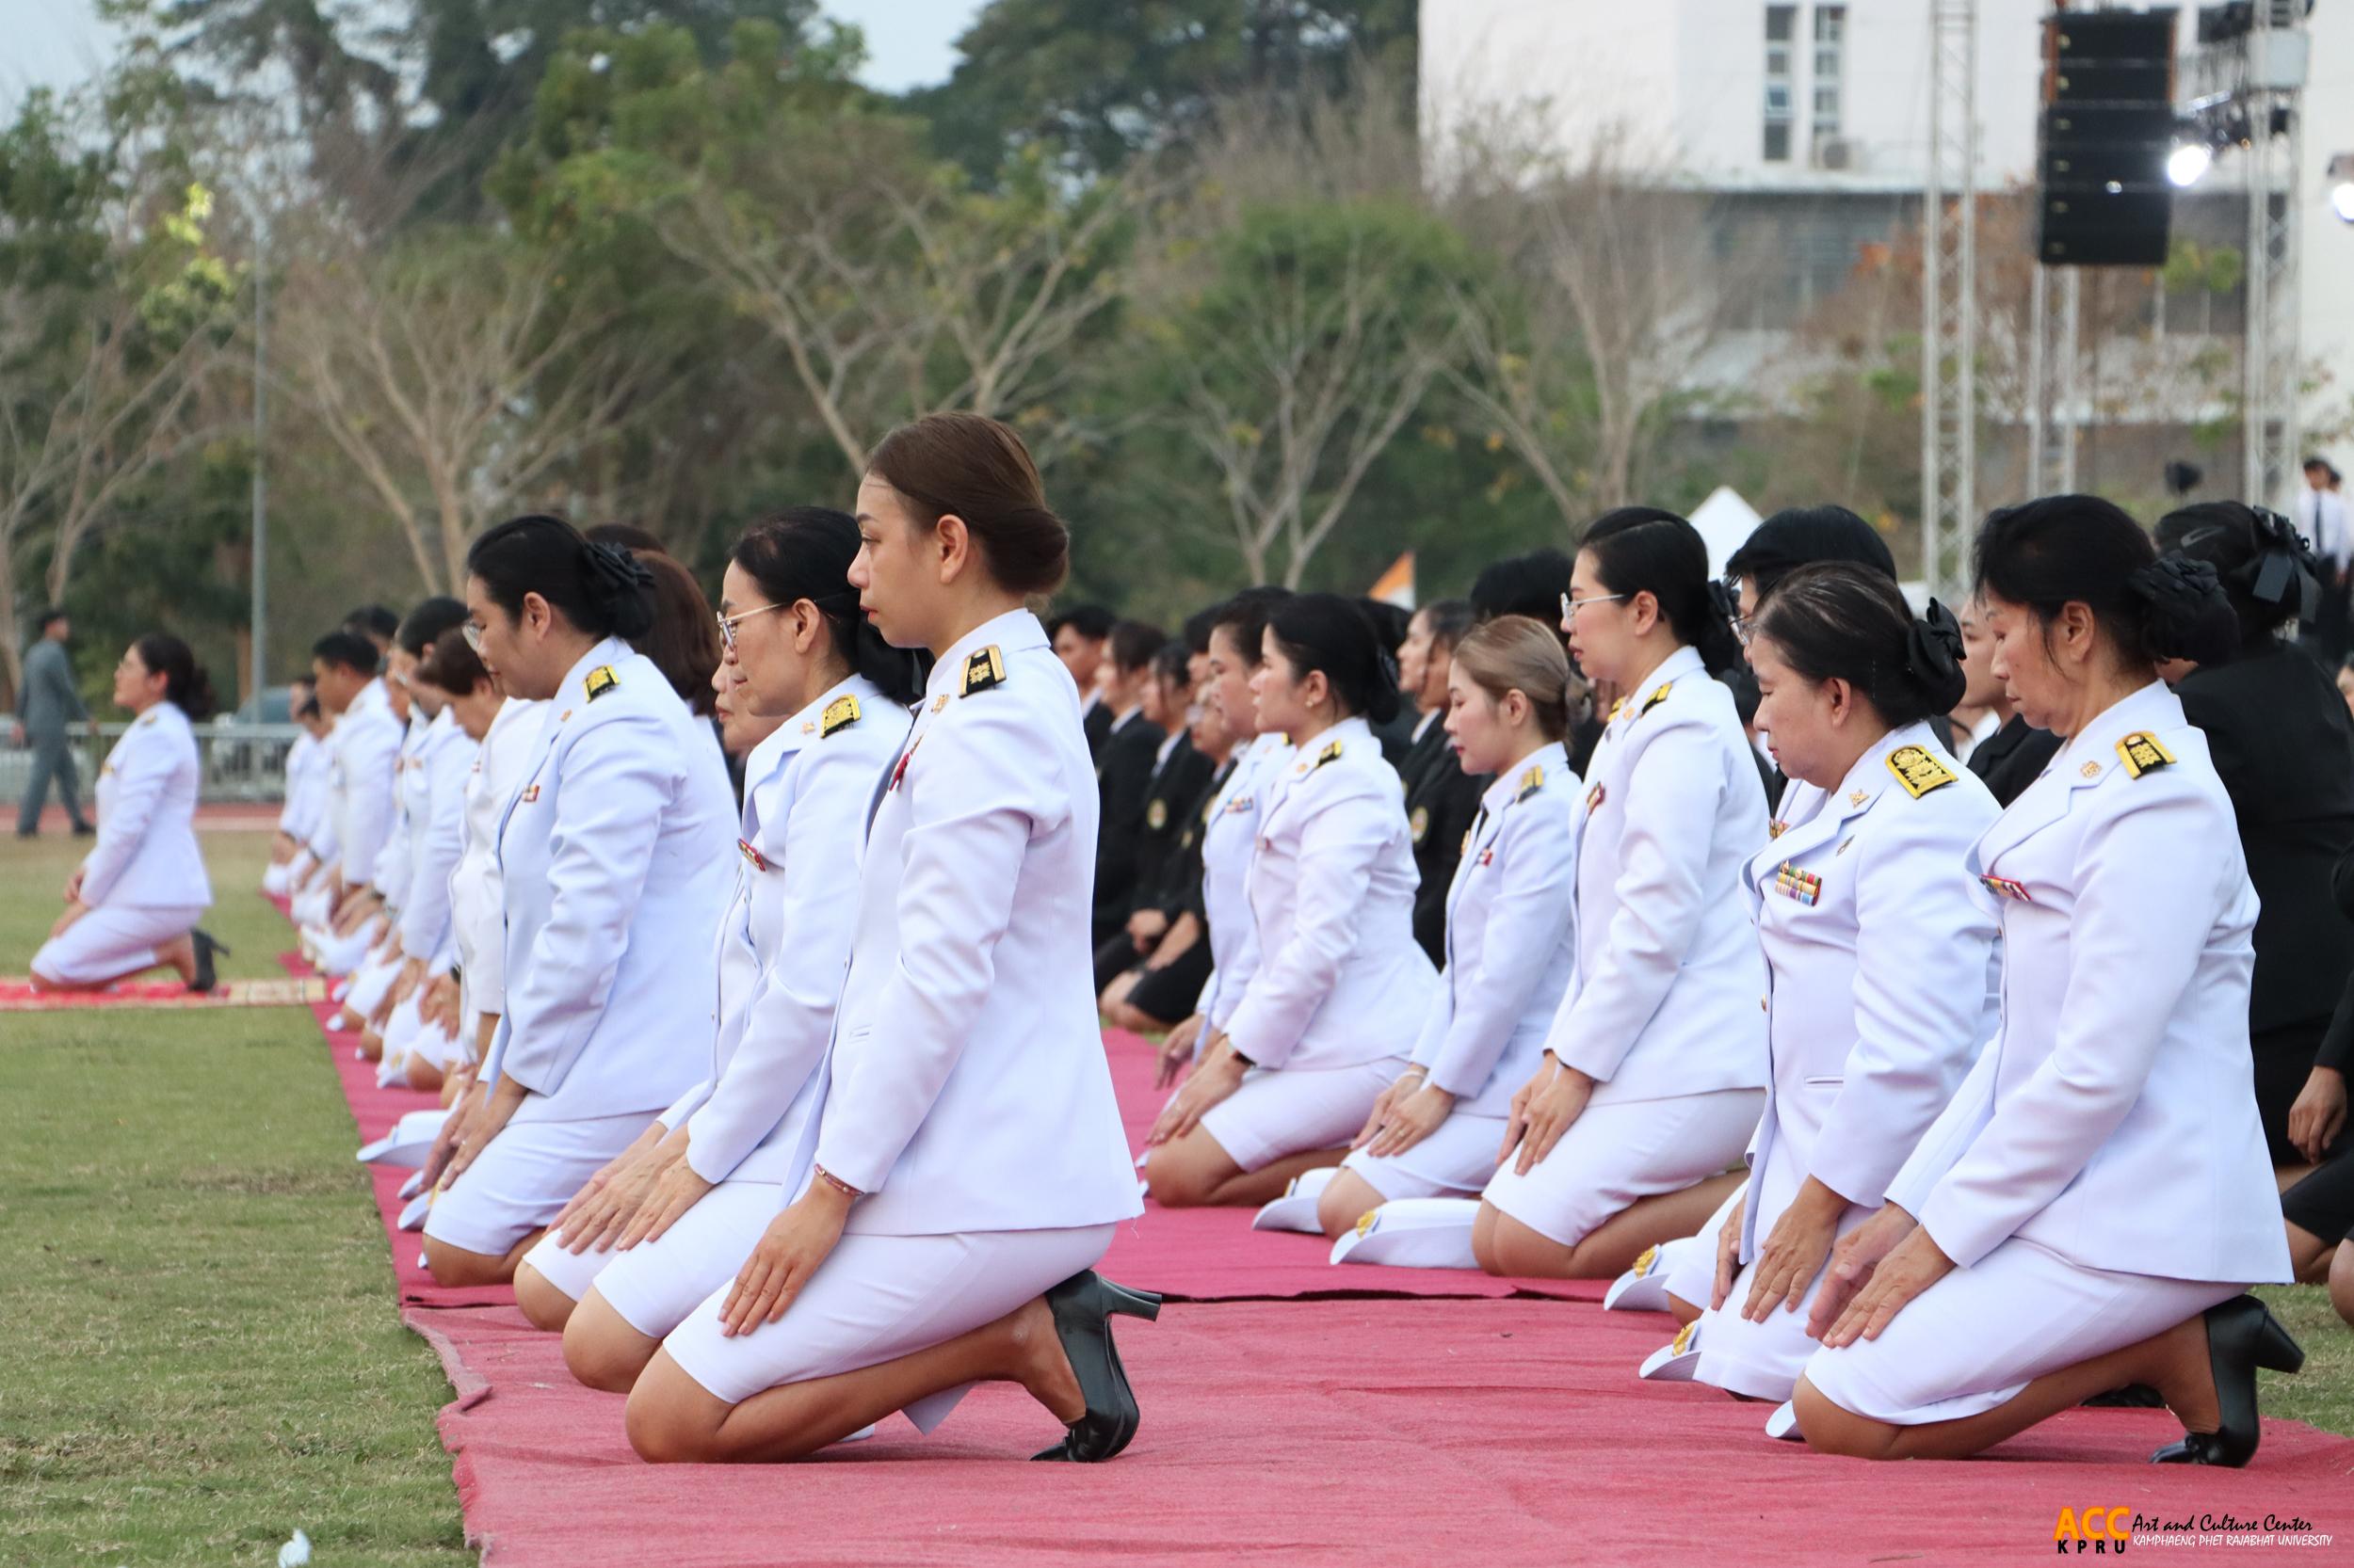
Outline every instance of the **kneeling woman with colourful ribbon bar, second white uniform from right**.
<svg viewBox="0 0 2354 1568">
<path fill-rule="evenodd" d="M 1857 565 L 1798 567 L 1749 640 L 1758 730 L 1791 784 L 1744 883 L 1768 970 L 1773 1083 L 1749 1191 L 1707 1241 L 1716 1281 L 1678 1344 L 1700 1382 L 1789 1398 L 1831 1243 L 1954 1099 L 1994 1026 L 1994 899 L 1961 862 L 2001 808 L 1937 744 L 1961 626 Z"/>
</svg>

